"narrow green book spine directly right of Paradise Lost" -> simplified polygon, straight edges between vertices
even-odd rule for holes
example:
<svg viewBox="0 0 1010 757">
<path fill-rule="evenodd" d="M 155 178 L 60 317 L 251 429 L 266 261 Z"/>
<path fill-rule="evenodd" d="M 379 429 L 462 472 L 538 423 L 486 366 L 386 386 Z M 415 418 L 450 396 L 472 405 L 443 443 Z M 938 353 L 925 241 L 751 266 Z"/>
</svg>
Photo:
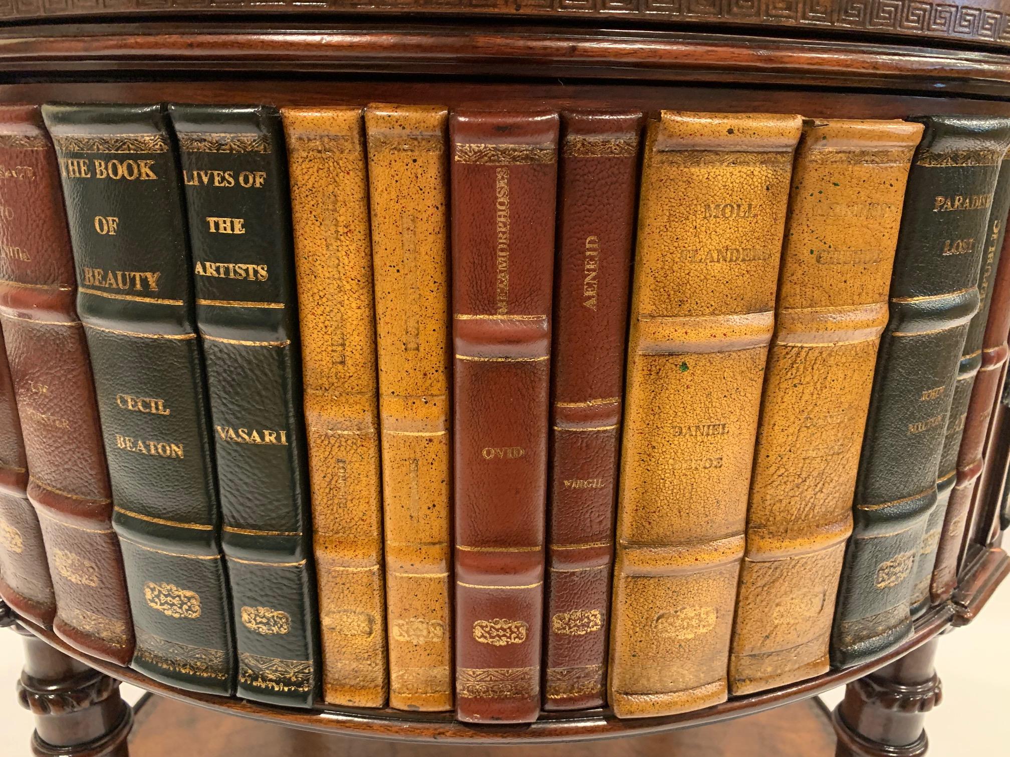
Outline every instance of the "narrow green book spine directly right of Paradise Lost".
<svg viewBox="0 0 1010 757">
<path fill-rule="evenodd" d="M 1003 246 L 1003 236 L 1006 233 L 1007 213 L 1010 212 L 1010 160 L 1004 159 L 1000 166 L 996 182 L 996 192 L 993 194 L 993 205 L 989 211 L 985 234 L 973 240 L 973 246 L 980 255 L 979 278 L 979 311 L 968 324 L 965 346 L 961 350 L 961 361 L 957 363 L 957 377 L 954 381 L 953 400 L 947 416 L 946 433 L 943 435 L 943 448 L 940 452 L 939 472 L 936 478 L 936 505 L 929 513 L 922 535 L 922 545 L 916 557 L 915 575 L 912 582 L 911 614 L 918 617 L 929 609 L 930 583 L 933 576 L 933 566 L 941 541 L 956 540 L 957 546 L 946 544 L 947 550 L 956 552 L 960 549 L 961 534 L 964 533 L 967 509 L 954 504 L 949 510 L 954 486 L 963 485 L 967 471 L 957 467 L 957 457 L 961 451 L 961 441 L 965 433 L 965 421 L 968 418 L 969 402 L 972 399 L 972 389 L 975 377 L 982 367 L 982 337 L 985 335 L 986 322 L 989 320 L 989 308 L 992 298 L 989 297 L 990 284 L 996 265 L 999 262 L 1000 248 Z M 964 498 L 955 498 L 964 500 Z M 967 504 L 967 503 L 965 503 Z M 964 512 L 955 513 L 962 510 Z M 956 524 L 944 525 L 948 515 L 954 516 Z M 944 532 L 950 528 L 956 532 L 949 536 Z"/>
</svg>

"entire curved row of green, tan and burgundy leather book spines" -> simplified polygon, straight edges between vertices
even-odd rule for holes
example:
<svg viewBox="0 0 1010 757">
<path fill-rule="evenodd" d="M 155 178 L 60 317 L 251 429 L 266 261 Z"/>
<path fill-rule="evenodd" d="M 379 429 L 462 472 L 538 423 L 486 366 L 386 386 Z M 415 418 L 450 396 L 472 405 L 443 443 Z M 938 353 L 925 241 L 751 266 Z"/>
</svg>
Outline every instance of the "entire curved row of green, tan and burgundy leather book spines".
<svg viewBox="0 0 1010 757">
<path fill-rule="evenodd" d="M 1002 506 L 1008 147 L 4 106 L 0 596 L 183 688 L 470 723 L 876 658 Z"/>
</svg>

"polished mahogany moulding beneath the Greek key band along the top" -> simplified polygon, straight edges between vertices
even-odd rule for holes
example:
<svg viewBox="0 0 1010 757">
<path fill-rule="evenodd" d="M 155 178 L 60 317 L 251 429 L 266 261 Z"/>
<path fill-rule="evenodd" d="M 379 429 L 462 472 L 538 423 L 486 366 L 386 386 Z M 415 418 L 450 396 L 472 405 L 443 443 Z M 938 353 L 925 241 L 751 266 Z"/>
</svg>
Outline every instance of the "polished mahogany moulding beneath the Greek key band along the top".
<svg viewBox="0 0 1010 757">
<path fill-rule="evenodd" d="M 0 31 L 8 81 L 57 73 L 457 75 L 803 85 L 1010 96 L 1010 58 L 847 40 L 468 23 L 145 22 Z"/>
</svg>

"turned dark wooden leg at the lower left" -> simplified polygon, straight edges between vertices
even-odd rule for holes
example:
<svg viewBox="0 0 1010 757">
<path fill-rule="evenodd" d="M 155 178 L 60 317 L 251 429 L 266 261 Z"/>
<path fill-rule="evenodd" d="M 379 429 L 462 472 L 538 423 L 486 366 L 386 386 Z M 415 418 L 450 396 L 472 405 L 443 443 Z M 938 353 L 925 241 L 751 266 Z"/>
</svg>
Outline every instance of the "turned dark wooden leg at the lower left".
<svg viewBox="0 0 1010 757">
<path fill-rule="evenodd" d="M 54 649 L 9 614 L 5 618 L 6 610 L 0 603 L 0 625 L 24 637 L 17 697 L 35 716 L 36 757 L 128 757 L 133 717 L 119 696 L 119 681 Z"/>
</svg>

